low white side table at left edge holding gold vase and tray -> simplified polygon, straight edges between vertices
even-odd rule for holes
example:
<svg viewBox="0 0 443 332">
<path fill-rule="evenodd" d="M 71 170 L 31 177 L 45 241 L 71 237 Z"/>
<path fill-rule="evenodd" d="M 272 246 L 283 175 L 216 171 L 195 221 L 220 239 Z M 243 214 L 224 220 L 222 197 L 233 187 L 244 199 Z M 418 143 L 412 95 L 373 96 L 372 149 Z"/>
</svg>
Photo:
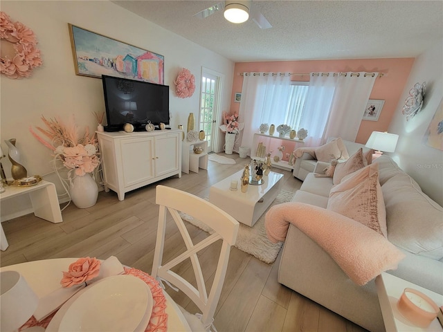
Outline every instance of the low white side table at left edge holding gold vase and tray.
<svg viewBox="0 0 443 332">
<path fill-rule="evenodd" d="M 51 223 L 61 223 L 62 212 L 60 212 L 60 205 L 57 199 L 57 191 L 55 185 L 48 181 L 41 181 L 32 187 L 5 187 L 6 191 L 0 194 L 0 201 L 12 199 L 13 197 L 28 194 L 30 201 L 33 204 L 34 215 L 39 218 L 51 221 Z M 6 250 L 8 248 L 8 241 L 3 232 L 3 227 L 0 223 L 0 249 Z"/>
</svg>

